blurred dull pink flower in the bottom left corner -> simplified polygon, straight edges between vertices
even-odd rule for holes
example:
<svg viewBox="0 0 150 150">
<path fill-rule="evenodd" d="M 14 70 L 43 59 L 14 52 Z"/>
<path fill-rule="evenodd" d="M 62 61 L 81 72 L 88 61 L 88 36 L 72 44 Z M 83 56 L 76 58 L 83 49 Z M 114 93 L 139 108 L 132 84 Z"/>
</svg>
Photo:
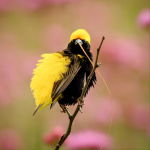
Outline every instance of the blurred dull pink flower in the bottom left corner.
<svg viewBox="0 0 150 150">
<path fill-rule="evenodd" d="M 0 149 L 16 150 L 21 147 L 22 141 L 18 133 L 10 129 L 0 131 Z"/>
</svg>

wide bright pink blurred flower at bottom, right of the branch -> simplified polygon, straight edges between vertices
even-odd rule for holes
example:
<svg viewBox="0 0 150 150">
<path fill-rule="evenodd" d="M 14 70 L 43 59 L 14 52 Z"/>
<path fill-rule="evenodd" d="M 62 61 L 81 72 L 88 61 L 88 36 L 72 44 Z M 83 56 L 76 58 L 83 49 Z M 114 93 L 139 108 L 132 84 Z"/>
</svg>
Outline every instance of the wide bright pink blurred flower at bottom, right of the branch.
<svg viewBox="0 0 150 150">
<path fill-rule="evenodd" d="M 112 140 L 107 135 L 98 131 L 86 130 L 77 133 L 71 133 L 65 142 L 65 146 L 70 150 L 83 149 L 108 149 L 112 146 Z"/>
</svg>

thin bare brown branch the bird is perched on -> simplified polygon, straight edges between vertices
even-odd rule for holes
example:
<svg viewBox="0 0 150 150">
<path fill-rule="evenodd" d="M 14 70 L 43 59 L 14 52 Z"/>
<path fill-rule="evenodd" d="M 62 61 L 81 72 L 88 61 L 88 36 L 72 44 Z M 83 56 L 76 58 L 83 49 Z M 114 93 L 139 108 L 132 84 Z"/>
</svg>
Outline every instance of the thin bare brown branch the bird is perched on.
<svg viewBox="0 0 150 150">
<path fill-rule="evenodd" d="M 93 76 L 93 74 L 94 74 L 96 68 L 100 66 L 100 63 L 97 63 L 97 61 L 98 61 L 99 52 L 100 52 L 100 49 L 101 49 L 101 46 L 102 46 L 102 44 L 103 44 L 104 39 L 105 39 L 105 37 L 103 36 L 103 37 L 102 37 L 102 41 L 101 41 L 101 43 L 100 43 L 100 46 L 99 46 L 99 48 L 97 49 L 97 55 L 96 55 L 95 65 L 93 66 L 92 72 L 90 73 L 90 75 L 89 75 L 89 77 L 88 77 L 88 79 L 87 79 L 87 82 L 86 82 L 86 84 L 85 84 L 85 86 L 84 86 L 84 88 L 83 88 L 83 90 L 82 90 L 81 96 L 80 96 L 79 99 L 78 99 L 78 101 L 79 101 L 80 103 L 83 101 L 83 97 L 84 97 L 84 95 L 85 95 L 85 92 L 86 92 L 86 90 L 87 90 L 87 88 L 88 88 L 88 85 L 89 85 L 89 83 L 90 83 L 90 81 L 91 81 L 91 78 L 92 78 L 92 76 Z M 69 113 L 69 111 L 67 110 L 67 114 L 68 114 L 68 116 L 69 116 L 69 126 L 68 126 L 68 129 L 67 129 L 66 133 L 61 137 L 59 143 L 56 145 L 55 150 L 59 150 L 59 149 L 60 149 L 60 147 L 62 146 L 62 144 L 65 142 L 65 140 L 67 139 L 67 137 L 68 137 L 69 134 L 71 133 L 72 123 L 73 123 L 73 121 L 74 121 L 74 119 L 75 119 L 77 113 L 79 112 L 81 106 L 82 106 L 82 105 L 78 103 L 77 108 L 76 108 L 75 112 L 73 113 L 73 115 L 71 115 L 71 114 Z"/>
</svg>

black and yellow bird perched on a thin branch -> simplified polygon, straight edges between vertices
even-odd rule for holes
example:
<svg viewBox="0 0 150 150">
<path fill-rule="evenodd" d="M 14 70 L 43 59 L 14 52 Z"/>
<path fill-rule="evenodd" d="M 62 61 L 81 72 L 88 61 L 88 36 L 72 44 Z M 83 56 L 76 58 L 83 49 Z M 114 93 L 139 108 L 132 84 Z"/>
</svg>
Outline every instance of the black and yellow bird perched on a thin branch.
<svg viewBox="0 0 150 150">
<path fill-rule="evenodd" d="M 90 42 L 89 33 L 85 29 L 77 29 L 71 34 L 66 49 L 41 55 L 43 59 L 38 60 L 30 83 L 37 106 L 33 115 L 48 105 L 51 109 L 57 102 L 60 106 L 75 105 L 78 102 L 84 81 L 93 69 L 80 45 L 93 62 Z M 96 81 L 94 73 L 84 97 Z"/>
</svg>

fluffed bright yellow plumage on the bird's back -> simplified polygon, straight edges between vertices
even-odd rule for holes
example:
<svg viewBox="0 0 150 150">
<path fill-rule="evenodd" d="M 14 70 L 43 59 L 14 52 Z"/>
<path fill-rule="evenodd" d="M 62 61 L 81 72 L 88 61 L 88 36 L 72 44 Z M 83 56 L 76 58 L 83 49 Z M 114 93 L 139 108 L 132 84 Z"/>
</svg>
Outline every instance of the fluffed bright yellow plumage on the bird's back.
<svg viewBox="0 0 150 150">
<path fill-rule="evenodd" d="M 60 53 L 43 54 L 41 57 L 44 59 L 38 61 L 30 84 L 37 107 L 43 104 L 40 109 L 52 103 L 51 93 L 54 82 L 62 78 L 62 74 L 67 72 L 67 66 L 70 63 L 70 59 L 63 57 Z"/>
</svg>

